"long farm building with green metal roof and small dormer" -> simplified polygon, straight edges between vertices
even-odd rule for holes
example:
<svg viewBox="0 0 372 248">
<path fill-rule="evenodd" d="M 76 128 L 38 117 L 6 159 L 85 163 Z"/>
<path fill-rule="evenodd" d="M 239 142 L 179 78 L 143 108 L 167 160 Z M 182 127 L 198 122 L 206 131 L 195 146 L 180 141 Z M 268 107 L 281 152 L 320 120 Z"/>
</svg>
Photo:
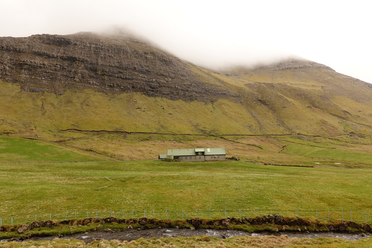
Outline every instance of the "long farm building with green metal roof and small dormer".
<svg viewBox="0 0 372 248">
<path fill-rule="evenodd" d="M 166 158 L 186 162 L 225 161 L 226 152 L 225 148 L 168 149 Z"/>
</svg>

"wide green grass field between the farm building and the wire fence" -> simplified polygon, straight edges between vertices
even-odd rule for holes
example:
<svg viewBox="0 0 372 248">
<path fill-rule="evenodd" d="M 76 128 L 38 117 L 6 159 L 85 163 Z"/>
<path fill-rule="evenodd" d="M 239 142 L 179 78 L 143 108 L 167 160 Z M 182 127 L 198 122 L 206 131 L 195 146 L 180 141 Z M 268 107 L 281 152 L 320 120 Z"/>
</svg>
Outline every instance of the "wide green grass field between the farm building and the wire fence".
<svg viewBox="0 0 372 248">
<path fill-rule="evenodd" d="M 0 164 L 0 217 L 64 219 L 113 215 L 161 219 L 286 216 L 372 221 L 372 171 L 222 162 L 81 162 Z M 111 179 L 109 181 L 105 177 Z M 100 187 L 103 189 L 94 190 Z M 350 216 L 350 209 L 353 211 Z M 100 216 L 101 217 L 101 216 Z M 4 222 L 3 222 L 4 223 Z"/>
</svg>

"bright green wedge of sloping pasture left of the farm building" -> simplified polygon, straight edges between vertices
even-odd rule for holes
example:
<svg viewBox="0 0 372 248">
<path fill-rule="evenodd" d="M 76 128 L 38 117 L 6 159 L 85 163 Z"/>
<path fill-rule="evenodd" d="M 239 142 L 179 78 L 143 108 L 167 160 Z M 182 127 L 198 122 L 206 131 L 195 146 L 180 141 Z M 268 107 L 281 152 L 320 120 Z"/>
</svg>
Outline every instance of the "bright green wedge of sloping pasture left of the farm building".
<svg viewBox="0 0 372 248">
<path fill-rule="evenodd" d="M 1 162 L 51 162 L 97 160 L 86 152 L 46 142 L 0 136 Z M 102 158 L 99 158 L 102 159 Z"/>
</svg>

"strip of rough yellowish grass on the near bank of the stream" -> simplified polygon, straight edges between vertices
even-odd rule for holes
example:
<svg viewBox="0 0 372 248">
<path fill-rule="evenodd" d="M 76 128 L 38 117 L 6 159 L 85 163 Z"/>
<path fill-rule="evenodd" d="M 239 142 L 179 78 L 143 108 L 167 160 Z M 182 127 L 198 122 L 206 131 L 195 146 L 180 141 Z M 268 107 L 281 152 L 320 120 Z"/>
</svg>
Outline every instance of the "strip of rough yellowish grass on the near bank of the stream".
<svg viewBox="0 0 372 248">
<path fill-rule="evenodd" d="M 119 241 L 105 239 L 93 241 L 85 244 L 77 239 L 54 239 L 52 241 L 26 241 L 26 242 L 0 242 L 0 247 L 4 248 L 34 248 L 34 247 L 55 247 L 55 248 L 178 248 L 178 247 L 197 247 L 197 248 L 235 248 L 235 247 L 259 247 L 259 248 L 368 248 L 371 247 L 371 238 L 360 239 L 358 241 L 347 241 L 341 238 L 289 238 L 286 235 L 282 236 L 240 236 L 227 239 L 218 239 L 210 236 L 195 236 L 195 237 L 171 237 L 171 238 L 151 238 L 138 239 L 135 241 Z"/>
</svg>

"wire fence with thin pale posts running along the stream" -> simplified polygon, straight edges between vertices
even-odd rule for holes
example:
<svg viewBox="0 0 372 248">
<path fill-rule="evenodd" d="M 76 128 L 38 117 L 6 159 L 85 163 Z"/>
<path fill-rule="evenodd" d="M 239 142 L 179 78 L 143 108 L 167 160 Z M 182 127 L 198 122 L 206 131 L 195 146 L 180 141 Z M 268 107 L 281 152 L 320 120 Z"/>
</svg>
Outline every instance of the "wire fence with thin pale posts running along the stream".
<svg viewBox="0 0 372 248">
<path fill-rule="evenodd" d="M 0 225 L 24 224 L 28 222 L 46 220 L 71 220 L 85 218 L 107 218 L 115 216 L 119 219 L 131 218 L 154 218 L 154 219 L 218 219 L 218 218 L 252 218 L 256 216 L 267 216 L 279 214 L 285 217 L 301 217 L 309 219 L 351 220 L 357 223 L 371 223 L 372 209 L 350 210 L 350 209 L 279 209 L 279 208 L 236 208 L 236 209 L 109 209 L 109 210 L 68 210 L 58 213 L 30 213 L 29 215 L 0 216 Z"/>
</svg>

